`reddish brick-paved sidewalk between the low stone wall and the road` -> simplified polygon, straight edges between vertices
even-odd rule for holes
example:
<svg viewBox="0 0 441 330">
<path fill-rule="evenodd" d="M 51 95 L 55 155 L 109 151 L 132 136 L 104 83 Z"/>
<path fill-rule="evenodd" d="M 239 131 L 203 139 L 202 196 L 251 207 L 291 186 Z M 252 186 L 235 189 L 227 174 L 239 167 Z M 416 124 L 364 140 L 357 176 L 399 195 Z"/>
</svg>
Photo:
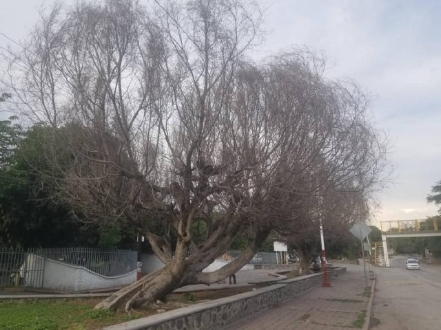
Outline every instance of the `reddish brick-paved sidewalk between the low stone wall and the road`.
<svg viewBox="0 0 441 330">
<path fill-rule="evenodd" d="M 364 293 L 364 275 L 364 272 L 347 272 L 333 279 L 330 288 L 315 287 L 224 330 L 360 329 L 370 296 L 370 290 L 369 294 Z"/>
</svg>

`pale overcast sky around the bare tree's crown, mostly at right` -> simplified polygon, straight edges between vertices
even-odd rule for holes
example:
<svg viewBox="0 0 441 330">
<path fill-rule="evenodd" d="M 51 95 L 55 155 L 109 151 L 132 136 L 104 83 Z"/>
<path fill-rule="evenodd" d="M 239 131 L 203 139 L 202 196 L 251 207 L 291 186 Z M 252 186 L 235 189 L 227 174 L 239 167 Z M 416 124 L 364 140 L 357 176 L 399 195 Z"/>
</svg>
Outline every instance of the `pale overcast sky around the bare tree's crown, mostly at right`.
<svg viewBox="0 0 441 330">
<path fill-rule="evenodd" d="M 2 1 L 0 32 L 23 39 L 39 3 Z M 323 50 L 330 76 L 354 78 L 376 97 L 373 113 L 391 135 L 398 166 L 396 185 L 380 195 L 377 221 L 437 214 L 426 197 L 441 180 L 441 1 L 274 0 L 268 7 L 271 34 L 262 52 Z M 8 43 L 0 35 L 0 46 Z"/>
</svg>

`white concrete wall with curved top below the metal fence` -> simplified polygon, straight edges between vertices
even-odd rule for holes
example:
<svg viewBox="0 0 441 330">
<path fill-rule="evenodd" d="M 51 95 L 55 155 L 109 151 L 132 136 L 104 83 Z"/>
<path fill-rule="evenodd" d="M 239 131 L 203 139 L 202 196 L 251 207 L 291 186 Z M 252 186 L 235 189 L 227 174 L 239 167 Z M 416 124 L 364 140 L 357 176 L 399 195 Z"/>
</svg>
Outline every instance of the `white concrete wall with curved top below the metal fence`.
<svg viewBox="0 0 441 330">
<path fill-rule="evenodd" d="M 81 266 L 45 260 L 43 287 L 69 291 L 85 291 L 121 287 L 136 281 L 136 270 L 121 276 L 102 276 Z"/>
</svg>

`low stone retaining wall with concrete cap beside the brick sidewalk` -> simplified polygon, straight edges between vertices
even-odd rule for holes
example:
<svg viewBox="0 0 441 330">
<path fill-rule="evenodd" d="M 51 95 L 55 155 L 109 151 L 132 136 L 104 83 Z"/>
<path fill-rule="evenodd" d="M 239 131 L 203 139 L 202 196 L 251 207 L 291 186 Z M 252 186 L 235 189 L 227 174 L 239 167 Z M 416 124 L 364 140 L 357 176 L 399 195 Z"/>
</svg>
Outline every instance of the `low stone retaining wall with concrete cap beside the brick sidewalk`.
<svg viewBox="0 0 441 330">
<path fill-rule="evenodd" d="M 346 268 L 332 270 L 344 274 Z M 252 292 L 221 298 L 162 314 L 112 325 L 105 330 L 212 330 L 269 308 L 316 287 L 323 282 L 323 273 L 292 278 Z"/>
</svg>

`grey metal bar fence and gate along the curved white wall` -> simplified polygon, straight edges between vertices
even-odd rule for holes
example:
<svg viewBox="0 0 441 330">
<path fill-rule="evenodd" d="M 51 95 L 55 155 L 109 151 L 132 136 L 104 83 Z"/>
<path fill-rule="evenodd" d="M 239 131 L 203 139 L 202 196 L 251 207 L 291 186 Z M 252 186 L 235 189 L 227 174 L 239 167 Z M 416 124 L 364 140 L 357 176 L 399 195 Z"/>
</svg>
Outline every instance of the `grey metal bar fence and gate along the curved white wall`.
<svg viewBox="0 0 441 330">
<path fill-rule="evenodd" d="M 0 247 L 0 289 L 43 287 L 45 259 L 85 267 L 103 276 L 119 276 L 138 268 L 136 251 L 98 248 L 30 249 Z"/>
</svg>

